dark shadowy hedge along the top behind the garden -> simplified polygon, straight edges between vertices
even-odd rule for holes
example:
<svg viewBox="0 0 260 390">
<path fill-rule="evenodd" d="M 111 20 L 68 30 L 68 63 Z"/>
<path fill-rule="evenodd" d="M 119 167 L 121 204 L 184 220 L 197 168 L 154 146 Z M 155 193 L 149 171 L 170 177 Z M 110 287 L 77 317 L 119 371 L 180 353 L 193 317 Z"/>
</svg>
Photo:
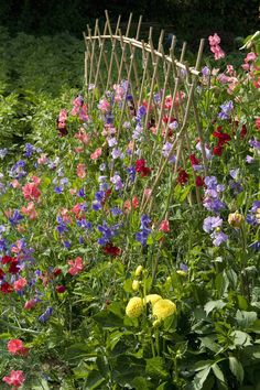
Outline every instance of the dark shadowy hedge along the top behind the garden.
<svg viewBox="0 0 260 390">
<path fill-rule="evenodd" d="M 113 19 L 142 13 L 145 21 L 173 25 L 174 33 L 191 37 L 214 31 L 248 35 L 259 22 L 259 0 L 0 0 L 0 24 L 14 33 L 79 35 L 87 23 L 104 18 L 106 8 Z"/>
</svg>

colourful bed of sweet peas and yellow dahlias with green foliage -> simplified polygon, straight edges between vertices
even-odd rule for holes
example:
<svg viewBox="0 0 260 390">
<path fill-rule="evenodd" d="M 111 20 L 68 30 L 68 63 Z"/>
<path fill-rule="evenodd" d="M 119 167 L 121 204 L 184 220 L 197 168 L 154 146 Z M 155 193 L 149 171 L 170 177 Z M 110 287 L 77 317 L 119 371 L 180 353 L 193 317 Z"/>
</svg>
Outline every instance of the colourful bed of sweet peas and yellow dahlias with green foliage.
<svg viewBox="0 0 260 390">
<path fill-rule="evenodd" d="M 259 389 L 259 35 L 239 68 L 208 43 L 143 83 L 99 45 L 2 142 L 1 389 Z"/>
</svg>

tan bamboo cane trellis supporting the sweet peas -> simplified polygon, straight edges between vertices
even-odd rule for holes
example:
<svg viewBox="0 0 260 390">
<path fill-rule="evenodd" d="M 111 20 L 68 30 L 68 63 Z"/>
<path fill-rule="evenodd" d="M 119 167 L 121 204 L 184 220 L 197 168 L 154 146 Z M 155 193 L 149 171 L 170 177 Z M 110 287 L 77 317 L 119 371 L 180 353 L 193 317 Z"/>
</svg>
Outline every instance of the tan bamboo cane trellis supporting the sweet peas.
<svg viewBox="0 0 260 390">
<path fill-rule="evenodd" d="M 119 17 L 116 29 L 112 31 L 109 15 L 106 11 L 106 23 L 102 33 L 100 32 L 98 20 L 96 20 L 94 32 L 87 26 L 87 33 L 84 34 L 86 43 L 85 83 L 88 90 L 89 110 L 96 104 L 97 96 L 101 96 L 106 90 L 112 88 L 113 84 L 119 84 L 122 79 L 126 80 L 131 101 L 129 102 L 126 98 L 122 102 L 120 120 L 117 123 L 118 138 L 120 137 L 123 120 L 127 120 L 131 112 L 137 112 L 145 97 L 144 130 L 151 123 L 155 123 L 158 134 L 161 134 L 162 127 L 169 132 L 171 119 L 173 117 L 177 119 L 178 131 L 170 152 L 170 156 L 176 154 L 174 172 L 176 173 L 178 169 L 183 150 L 185 149 L 191 154 L 188 122 L 192 120 L 201 140 L 203 164 L 205 174 L 207 174 L 204 138 L 195 96 L 204 40 L 201 40 L 195 66 L 191 67 L 185 61 L 186 43 L 183 44 L 180 58 L 176 58 L 175 36 L 172 39 L 169 53 L 165 53 L 163 46 L 164 31 L 161 31 L 159 42 L 154 45 L 152 28 L 150 28 L 148 42 L 139 40 L 142 17 L 139 19 L 134 37 L 129 36 L 131 22 L 132 14 L 130 14 L 126 32 L 122 34 Z M 155 101 L 155 97 L 160 101 Z M 165 107 L 165 99 L 172 101 L 170 109 Z M 129 105 L 131 110 L 129 110 Z M 165 115 L 167 116 L 166 126 Z M 145 139 L 147 142 L 150 142 L 151 153 L 154 153 L 156 144 L 161 140 L 160 137 L 158 136 L 155 140 L 153 138 L 153 141 L 149 137 Z M 149 199 L 143 199 L 142 210 L 147 207 L 151 208 L 152 195 L 166 164 L 167 159 L 162 156 L 158 165 L 156 175 L 153 177 L 151 196 Z M 197 189 L 196 196 L 197 203 L 199 203 Z"/>
</svg>

